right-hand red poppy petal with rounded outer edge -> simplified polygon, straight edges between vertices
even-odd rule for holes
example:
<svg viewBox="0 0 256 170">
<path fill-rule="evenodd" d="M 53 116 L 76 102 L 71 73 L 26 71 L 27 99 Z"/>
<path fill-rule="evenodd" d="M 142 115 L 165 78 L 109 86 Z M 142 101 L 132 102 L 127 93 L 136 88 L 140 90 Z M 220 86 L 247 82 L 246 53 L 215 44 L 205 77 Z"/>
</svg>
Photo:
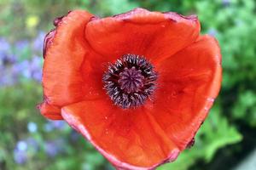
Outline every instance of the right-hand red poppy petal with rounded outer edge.
<svg viewBox="0 0 256 170">
<path fill-rule="evenodd" d="M 202 36 L 157 65 L 159 87 L 150 108 L 160 127 L 185 149 L 205 120 L 221 83 L 218 42 Z"/>
</svg>

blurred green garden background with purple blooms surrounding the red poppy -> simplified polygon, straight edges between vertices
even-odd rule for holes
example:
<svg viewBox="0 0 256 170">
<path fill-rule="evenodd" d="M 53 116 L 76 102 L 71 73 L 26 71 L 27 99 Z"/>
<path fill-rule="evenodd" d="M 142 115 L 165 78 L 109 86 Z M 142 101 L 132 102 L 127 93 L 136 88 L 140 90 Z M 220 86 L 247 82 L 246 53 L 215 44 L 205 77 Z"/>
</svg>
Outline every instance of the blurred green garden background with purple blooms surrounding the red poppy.
<svg viewBox="0 0 256 170">
<path fill-rule="evenodd" d="M 256 145 L 255 6 L 253 0 L 0 0 L 0 169 L 113 169 L 67 123 L 48 121 L 36 109 L 42 47 L 52 20 L 68 10 L 104 17 L 136 7 L 197 14 L 223 54 L 221 93 L 195 145 L 159 169 L 256 169 L 241 167 Z"/>
</svg>

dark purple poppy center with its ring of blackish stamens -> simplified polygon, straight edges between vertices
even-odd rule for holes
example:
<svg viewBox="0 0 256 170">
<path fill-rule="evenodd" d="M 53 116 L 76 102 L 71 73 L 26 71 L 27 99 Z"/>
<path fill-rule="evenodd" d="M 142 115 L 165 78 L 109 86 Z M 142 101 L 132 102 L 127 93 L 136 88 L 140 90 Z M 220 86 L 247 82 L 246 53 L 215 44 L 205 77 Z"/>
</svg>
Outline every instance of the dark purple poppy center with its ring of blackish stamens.
<svg viewBox="0 0 256 170">
<path fill-rule="evenodd" d="M 117 59 L 102 77 L 110 99 L 123 109 L 143 105 L 154 93 L 156 79 L 153 65 L 136 54 L 125 54 Z"/>
</svg>

